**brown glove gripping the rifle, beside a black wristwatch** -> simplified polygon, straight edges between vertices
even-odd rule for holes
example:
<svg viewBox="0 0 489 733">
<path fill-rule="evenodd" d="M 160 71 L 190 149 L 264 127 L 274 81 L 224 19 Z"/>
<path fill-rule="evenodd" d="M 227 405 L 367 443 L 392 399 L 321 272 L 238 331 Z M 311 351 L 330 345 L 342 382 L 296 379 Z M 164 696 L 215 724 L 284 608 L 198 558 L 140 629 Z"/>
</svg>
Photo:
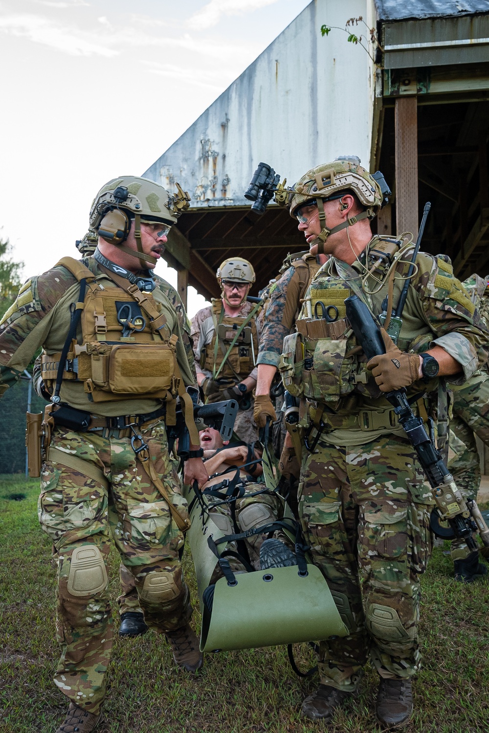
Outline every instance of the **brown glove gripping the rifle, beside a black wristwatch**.
<svg viewBox="0 0 489 733">
<path fill-rule="evenodd" d="M 367 361 L 367 369 L 372 372 L 380 390 L 392 392 L 401 387 L 408 387 L 421 379 L 419 354 L 406 354 L 401 351 L 384 328 L 381 328 L 381 334 L 387 353 L 379 354 Z"/>
</svg>

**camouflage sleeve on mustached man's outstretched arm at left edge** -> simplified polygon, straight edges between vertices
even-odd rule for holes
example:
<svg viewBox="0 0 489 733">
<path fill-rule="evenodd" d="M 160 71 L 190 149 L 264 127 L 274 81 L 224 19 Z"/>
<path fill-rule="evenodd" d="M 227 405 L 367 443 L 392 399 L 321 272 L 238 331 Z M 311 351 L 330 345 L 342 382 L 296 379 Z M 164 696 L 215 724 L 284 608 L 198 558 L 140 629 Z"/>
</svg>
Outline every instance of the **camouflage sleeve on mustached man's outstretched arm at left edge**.
<svg viewBox="0 0 489 733">
<path fill-rule="evenodd" d="M 0 321 L 0 395 L 42 346 L 51 328 L 53 307 L 76 283 L 65 268 L 53 268 L 20 287 L 15 303 Z"/>
</svg>

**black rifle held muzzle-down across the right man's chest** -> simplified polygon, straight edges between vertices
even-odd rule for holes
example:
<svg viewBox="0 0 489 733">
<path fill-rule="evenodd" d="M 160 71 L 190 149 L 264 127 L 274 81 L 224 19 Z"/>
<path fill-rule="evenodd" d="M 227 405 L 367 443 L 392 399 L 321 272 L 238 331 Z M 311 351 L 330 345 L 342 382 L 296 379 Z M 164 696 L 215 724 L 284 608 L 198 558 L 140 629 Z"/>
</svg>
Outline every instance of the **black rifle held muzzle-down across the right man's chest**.
<svg viewBox="0 0 489 733">
<path fill-rule="evenodd" d="M 386 353 L 380 328 L 365 303 L 357 295 L 351 295 L 346 298 L 345 305 L 346 317 L 367 359 L 370 360 L 373 356 Z M 478 531 L 485 548 L 488 548 L 486 552 L 489 553 L 489 528 L 477 503 L 472 500 L 465 501 L 458 490 L 441 453 L 436 449 L 434 435 L 428 435 L 422 419 L 414 414 L 409 405 L 406 389 L 387 392 L 386 397 L 394 407 L 399 422 L 406 431 L 408 441 L 417 452 L 419 463 L 433 491 L 436 514 L 432 512 L 431 529 L 435 534 L 446 539 L 453 539 L 453 537 L 464 539 L 471 551 L 478 549 L 477 542 L 472 537 L 472 533 Z M 440 528 L 440 519 L 449 523 L 451 533 L 447 534 L 447 530 L 443 531 L 443 528 Z"/>
</svg>

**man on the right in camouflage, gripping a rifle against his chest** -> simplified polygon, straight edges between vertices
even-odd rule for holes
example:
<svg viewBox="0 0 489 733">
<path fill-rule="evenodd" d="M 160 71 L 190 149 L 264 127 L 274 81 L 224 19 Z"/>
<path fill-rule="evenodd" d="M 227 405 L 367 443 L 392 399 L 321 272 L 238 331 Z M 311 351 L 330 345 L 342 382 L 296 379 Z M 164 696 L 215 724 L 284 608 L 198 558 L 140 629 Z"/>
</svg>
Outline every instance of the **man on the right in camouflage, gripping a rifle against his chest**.
<svg viewBox="0 0 489 733">
<path fill-rule="evenodd" d="M 390 728 L 406 724 L 412 712 L 419 574 L 430 554 L 433 499 L 383 393 L 408 388 L 426 417 L 437 394 L 433 375 L 466 380 L 487 355 L 486 334 L 448 258 L 419 253 L 400 348 L 383 331 L 387 353 L 365 363 L 344 301 L 353 292 L 378 317 L 389 290 L 390 306 L 392 298 L 397 303 L 412 256 L 412 246 L 394 237 L 372 238 L 369 219 L 381 199 L 378 183 L 354 157 L 318 166 L 287 192 L 285 204 L 311 254 L 329 260 L 307 290 L 279 368 L 285 387 L 303 400 L 310 448 L 299 490 L 305 538 L 350 631 L 321 642 L 321 685 L 302 710 L 331 719 L 357 689 L 370 650 L 380 677 L 376 715 Z"/>
</svg>

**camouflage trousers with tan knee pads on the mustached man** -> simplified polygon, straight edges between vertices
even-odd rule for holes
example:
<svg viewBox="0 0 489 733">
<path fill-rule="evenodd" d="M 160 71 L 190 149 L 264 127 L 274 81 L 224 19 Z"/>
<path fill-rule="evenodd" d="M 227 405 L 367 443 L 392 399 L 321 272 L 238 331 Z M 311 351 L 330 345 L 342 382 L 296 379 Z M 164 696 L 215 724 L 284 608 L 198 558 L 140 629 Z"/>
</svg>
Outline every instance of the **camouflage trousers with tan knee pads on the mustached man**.
<svg viewBox="0 0 489 733">
<path fill-rule="evenodd" d="M 159 633 L 184 626 L 192 614 L 179 562 L 184 538 L 136 458 L 130 438 L 56 428 L 51 448 L 102 469 L 108 488 L 66 468 L 43 465 L 39 517 L 53 541 L 58 569 L 56 632 L 61 659 L 54 681 L 80 707 L 97 713 L 111 658 L 112 619 L 107 560 L 111 539 L 135 579 L 146 624 Z M 168 457 L 165 425 L 141 430 L 154 468 L 172 502 L 185 507 Z M 89 471 L 89 473 L 92 471 Z"/>
</svg>

